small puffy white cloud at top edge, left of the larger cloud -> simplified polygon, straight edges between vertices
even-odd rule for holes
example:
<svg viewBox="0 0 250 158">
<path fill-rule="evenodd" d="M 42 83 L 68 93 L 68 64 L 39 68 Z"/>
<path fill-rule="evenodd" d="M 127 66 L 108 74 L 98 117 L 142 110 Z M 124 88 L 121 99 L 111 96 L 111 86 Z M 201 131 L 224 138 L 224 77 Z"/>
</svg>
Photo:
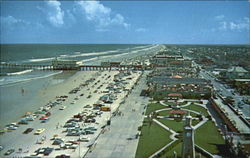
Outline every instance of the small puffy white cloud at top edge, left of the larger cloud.
<svg viewBox="0 0 250 158">
<path fill-rule="evenodd" d="M 48 6 L 48 21 L 55 27 L 60 27 L 64 24 L 64 11 L 61 9 L 59 1 L 46 1 Z"/>
</svg>

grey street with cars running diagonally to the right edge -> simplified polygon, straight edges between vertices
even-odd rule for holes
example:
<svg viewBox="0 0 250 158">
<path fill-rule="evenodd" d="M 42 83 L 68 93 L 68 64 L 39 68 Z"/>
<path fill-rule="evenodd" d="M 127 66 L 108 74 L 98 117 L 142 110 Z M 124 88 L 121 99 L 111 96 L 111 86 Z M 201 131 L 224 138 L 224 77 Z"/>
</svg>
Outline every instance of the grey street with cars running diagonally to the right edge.
<svg viewBox="0 0 250 158">
<path fill-rule="evenodd" d="M 227 88 L 225 88 L 225 86 L 217 81 L 215 81 L 215 78 L 212 77 L 211 75 L 209 75 L 206 71 L 201 71 L 200 75 L 202 77 L 204 77 L 207 80 L 210 80 L 211 83 L 213 84 L 214 88 L 216 88 L 216 90 L 220 90 L 221 91 L 221 95 L 222 96 L 231 96 L 235 99 L 236 103 L 238 102 L 242 102 L 243 97 L 238 95 L 238 94 L 232 94 L 231 91 Z M 245 117 L 250 117 L 250 105 L 249 104 L 244 104 L 243 108 L 242 108 L 242 112 L 245 115 Z"/>
</svg>

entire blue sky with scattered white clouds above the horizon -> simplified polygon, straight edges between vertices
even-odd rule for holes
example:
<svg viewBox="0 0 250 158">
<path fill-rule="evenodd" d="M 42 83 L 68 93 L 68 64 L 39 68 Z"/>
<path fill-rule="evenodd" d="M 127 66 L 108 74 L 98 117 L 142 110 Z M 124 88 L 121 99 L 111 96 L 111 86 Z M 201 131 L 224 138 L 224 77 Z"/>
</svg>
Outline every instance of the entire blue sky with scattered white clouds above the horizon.
<svg viewBox="0 0 250 158">
<path fill-rule="evenodd" d="M 250 44 L 247 0 L 0 3 L 2 44 Z"/>
</svg>

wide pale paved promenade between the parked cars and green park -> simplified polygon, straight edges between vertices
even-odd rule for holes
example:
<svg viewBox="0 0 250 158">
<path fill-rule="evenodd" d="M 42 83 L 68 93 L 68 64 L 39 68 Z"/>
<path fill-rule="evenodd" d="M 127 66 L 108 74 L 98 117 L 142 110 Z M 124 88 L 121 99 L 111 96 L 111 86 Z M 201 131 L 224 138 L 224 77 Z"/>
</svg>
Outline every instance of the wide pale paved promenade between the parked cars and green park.
<svg viewBox="0 0 250 158">
<path fill-rule="evenodd" d="M 119 108 L 124 116 L 112 118 L 110 128 L 106 127 L 107 131 L 100 135 L 93 151 L 85 157 L 131 158 L 135 156 L 139 139 L 134 138 L 138 132 L 138 126 L 142 124 L 144 107 L 148 104 L 148 98 L 140 96 L 141 90 L 146 88 L 145 77 L 144 74 L 135 89 L 125 99 L 125 103 Z"/>
</svg>

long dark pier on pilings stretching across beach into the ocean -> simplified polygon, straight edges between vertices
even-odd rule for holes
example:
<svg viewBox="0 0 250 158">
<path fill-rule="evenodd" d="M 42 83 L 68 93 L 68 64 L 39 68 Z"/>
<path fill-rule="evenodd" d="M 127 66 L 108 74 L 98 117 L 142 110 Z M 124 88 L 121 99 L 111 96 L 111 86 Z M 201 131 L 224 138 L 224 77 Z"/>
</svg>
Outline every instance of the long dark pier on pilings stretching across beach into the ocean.
<svg viewBox="0 0 250 158">
<path fill-rule="evenodd" d="M 142 65 L 79 65 L 77 67 L 55 67 L 53 65 L 31 65 L 31 64 L 11 64 L 1 63 L 0 68 L 4 69 L 34 69 L 34 70 L 78 70 L 78 71 L 123 71 L 123 70 L 137 70 L 142 71 Z"/>
</svg>

